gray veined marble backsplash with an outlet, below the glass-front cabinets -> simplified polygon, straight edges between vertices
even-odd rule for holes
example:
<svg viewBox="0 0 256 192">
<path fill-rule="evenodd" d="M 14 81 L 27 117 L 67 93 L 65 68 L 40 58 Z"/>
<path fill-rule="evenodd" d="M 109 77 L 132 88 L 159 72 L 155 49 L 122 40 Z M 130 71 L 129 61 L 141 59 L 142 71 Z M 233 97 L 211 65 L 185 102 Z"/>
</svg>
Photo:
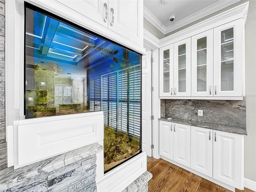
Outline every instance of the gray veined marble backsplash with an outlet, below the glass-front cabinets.
<svg viewBox="0 0 256 192">
<path fill-rule="evenodd" d="M 197 115 L 198 109 L 203 110 L 203 116 Z M 161 100 L 161 117 L 163 116 L 246 127 L 246 98 L 244 97 L 244 100 Z"/>
</svg>

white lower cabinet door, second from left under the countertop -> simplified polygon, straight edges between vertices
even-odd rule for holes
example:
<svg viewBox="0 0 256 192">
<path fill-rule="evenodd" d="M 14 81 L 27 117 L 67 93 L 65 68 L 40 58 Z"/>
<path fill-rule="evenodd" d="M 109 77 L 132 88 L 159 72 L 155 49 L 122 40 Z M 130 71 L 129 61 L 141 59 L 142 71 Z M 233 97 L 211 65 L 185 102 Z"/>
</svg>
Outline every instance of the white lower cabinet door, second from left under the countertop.
<svg viewBox="0 0 256 192">
<path fill-rule="evenodd" d="M 190 126 L 174 123 L 173 160 L 190 167 Z"/>
</svg>

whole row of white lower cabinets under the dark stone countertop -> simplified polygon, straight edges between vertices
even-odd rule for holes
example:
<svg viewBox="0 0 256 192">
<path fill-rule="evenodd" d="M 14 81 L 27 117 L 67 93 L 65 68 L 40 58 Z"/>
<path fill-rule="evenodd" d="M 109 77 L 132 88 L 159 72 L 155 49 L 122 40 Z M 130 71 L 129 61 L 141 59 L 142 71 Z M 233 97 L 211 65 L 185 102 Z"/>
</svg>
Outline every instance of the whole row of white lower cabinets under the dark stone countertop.
<svg viewBox="0 0 256 192">
<path fill-rule="evenodd" d="M 202 177 L 209 176 L 213 182 L 243 189 L 243 135 L 165 121 L 159 124 L 161 156 L 202 173 Z"/>
</svg>

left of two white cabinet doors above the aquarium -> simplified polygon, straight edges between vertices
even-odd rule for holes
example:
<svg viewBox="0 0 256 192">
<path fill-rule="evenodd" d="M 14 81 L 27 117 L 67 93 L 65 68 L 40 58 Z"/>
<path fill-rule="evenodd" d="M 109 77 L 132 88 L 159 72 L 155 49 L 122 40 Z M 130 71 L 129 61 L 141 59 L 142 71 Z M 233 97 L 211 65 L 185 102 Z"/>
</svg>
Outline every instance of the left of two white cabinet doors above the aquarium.
<svg viewBox="0 0 256 192">
<path fill-rule="evenodd" d="M 56 0 L 70 9 L 108 27 L 108 0 Z"/>
</svg>

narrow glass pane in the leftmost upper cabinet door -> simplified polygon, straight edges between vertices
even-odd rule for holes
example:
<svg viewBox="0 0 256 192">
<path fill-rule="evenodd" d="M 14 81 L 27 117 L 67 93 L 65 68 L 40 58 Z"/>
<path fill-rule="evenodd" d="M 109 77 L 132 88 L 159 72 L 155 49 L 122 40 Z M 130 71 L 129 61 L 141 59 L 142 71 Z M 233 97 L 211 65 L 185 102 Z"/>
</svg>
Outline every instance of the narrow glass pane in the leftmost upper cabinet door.
<svg viewBox="0 0 256 192">
<path fill-rule="evenodd" d="M 164 93 L 170 92 L 170 50 L 164 51 Z"/>
</svg>

